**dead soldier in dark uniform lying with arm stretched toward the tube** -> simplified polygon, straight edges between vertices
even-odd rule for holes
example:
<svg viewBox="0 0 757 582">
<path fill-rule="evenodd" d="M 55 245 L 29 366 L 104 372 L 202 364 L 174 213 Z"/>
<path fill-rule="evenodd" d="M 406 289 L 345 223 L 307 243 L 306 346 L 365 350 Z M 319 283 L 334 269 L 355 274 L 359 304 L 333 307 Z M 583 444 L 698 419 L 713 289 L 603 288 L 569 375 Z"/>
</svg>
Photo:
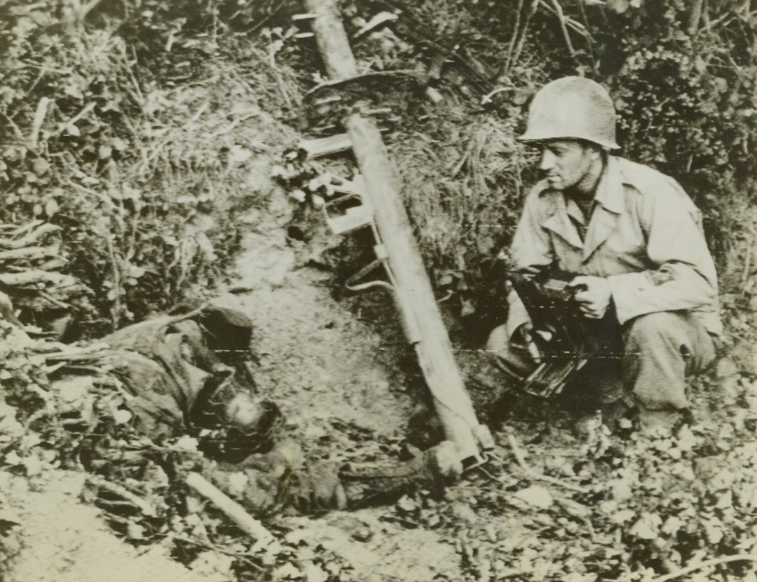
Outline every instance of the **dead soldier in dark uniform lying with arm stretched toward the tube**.
<svg viewBox="0 0 757 582">
<path fill-rule="evenodd" d="M 312 513 L 397 499 L 416 488 L 441 490 L 462 471 L 449 442 L 408 462 L 304 463 L 291 440 L 276 441 L 279 407 L 255 394 L 242 313 L 205 307 L 130 325 L 102 338 L 97 354 L 132 394 L 134 428 L 152 438 L 190 434 L 215 462 L 206 477 L 250 512 L 292 506 Z M 91 356 L 90 356 L 91 357 Z M 243 491 L 232 474 L 243 472 Z"/>
</svg>

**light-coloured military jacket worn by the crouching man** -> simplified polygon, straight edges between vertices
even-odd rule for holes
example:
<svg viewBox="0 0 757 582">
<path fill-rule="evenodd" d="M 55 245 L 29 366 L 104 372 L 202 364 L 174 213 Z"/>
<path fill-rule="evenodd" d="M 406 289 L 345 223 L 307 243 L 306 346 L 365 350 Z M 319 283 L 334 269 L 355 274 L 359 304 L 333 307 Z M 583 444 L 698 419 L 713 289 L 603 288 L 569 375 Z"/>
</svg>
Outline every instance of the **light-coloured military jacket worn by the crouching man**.
<svg viewBox="0 0 757 582">
<path fill-rule="evenodd" d="M 578 229 L 585 232 L 579 235 Z M 702 232 L 702 215 L 668 176 L 608 158 L 588 223 L 584 213 L 547 180 L 528 194 L 510 257 L 518 269 L 556 266 L 609 279 L 618 322 L 646 313 L 687 310 L 719 335 L 718 282 Z M 509 295 L 508 331 L 528 314 Z"/>
</svg>

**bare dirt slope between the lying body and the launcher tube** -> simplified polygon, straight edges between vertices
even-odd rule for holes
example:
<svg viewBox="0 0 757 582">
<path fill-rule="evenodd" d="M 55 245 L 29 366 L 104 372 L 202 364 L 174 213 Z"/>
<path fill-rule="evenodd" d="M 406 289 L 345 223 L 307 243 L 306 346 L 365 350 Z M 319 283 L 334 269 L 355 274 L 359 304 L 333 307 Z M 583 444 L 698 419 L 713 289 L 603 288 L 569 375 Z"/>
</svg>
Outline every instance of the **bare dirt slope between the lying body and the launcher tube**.
<svg viewBox="0 0 757 582">
<path fill-rule="evenodd" d="M 276 188 L 267 213 L 265 226 L 245 235 L 237 263 L 237 283 L 251 291 L 216 301 L 255 322 L 260 390 L 282 406 L 306 446 L 332 421 L 400 436 L 410 402 L 400 372 L 375 357 L 382 338 L 334 300 L 331 273 L 298 265 L 286 237 L 291 210 Z"/>
</svg>

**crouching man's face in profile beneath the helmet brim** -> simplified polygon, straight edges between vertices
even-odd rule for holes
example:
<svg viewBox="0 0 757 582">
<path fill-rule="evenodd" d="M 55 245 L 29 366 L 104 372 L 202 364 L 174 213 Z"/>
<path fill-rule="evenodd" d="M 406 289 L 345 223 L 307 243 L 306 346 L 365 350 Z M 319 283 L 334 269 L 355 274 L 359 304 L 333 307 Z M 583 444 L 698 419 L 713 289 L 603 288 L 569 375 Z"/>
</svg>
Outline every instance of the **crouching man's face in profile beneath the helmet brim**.
<svg viewBox="0 0 757 582">
<path fill-rule="evenodd" d="M 554 139 L 540 144 L 539 170 L 544 173 L 550 188 L 558 191 L 584 188 L 589 170 L 596 158 L 593 148 L 572 139 Z"/>
</svg>

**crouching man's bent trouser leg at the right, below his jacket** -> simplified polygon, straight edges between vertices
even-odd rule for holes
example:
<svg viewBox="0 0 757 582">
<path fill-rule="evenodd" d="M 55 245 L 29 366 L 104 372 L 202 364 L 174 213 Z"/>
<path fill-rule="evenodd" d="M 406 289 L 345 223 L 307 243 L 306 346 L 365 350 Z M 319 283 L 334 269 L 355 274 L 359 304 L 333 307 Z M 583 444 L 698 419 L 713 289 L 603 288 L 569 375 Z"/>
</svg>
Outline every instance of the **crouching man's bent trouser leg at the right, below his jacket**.
<svg viewBox="0 0 757 582">
<path fill-rule="evenodd" d="M 686 377 L 715 358 L 706 329 L 689 313 L 640 316 L 623 329 L 623 378 L 640 410 L 642 426 L 663 424 L 688 406 Z"/>
</svg>

